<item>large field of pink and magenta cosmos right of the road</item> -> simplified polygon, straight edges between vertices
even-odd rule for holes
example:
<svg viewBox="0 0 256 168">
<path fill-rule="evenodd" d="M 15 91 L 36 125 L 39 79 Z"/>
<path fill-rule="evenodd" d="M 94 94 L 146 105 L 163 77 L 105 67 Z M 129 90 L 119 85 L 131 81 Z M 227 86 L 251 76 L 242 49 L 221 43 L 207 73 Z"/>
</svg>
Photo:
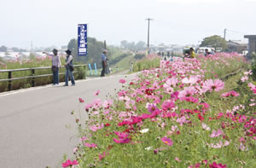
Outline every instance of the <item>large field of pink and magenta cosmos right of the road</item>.
<svg viewBox="0 0 256 168">
<path fill-rule="evenodd" d="M 256 86 L 241 55 L 160 61 L 109 100 L 79 103 L 62 167 L 256 167 Z M 236 72 L 236 73 L 232 73 Z M 232 75 L 229 75 L 232 73 Z"/>
</svg>

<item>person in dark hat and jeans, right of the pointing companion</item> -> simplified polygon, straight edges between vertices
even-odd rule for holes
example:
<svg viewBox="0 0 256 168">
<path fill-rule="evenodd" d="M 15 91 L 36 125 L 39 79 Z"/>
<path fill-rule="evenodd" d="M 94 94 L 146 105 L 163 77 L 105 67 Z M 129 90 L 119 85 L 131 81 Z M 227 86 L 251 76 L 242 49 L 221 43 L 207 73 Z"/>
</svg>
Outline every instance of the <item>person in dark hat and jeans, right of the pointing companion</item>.
<svg viewBox="0 0 256 168">
<path fill-rule="evenodd" d="M 67 58 L 66 58 L 66 63 L 65 63 L 66 74 L 65 74 L 64 86 L 68 86 L 68 77 L 70 77 L 71 83 L 74 86 L 75 81 L 73 78 L 73 56 L 71 55 L 71 50 L 67 49 L 65 52 L 67 53 Z"/>
</svg>

